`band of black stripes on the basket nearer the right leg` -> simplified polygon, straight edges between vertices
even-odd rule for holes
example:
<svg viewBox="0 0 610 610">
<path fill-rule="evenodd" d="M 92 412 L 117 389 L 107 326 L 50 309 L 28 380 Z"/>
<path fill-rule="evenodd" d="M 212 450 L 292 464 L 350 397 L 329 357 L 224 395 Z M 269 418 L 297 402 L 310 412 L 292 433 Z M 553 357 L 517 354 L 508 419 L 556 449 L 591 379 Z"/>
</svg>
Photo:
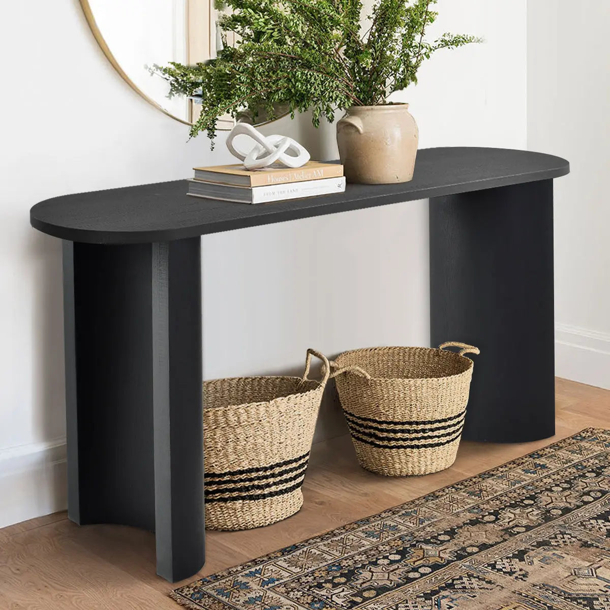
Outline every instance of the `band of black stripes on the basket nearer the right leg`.
<svg viewBox="0 0 610 610">
<path fill-rule="evenodd" d="M 464 409 L 437 420 L 393 421 L 362 417 L 344 409 L 354 439 L 382 449 L 430 449 L 459 439 L 464 428 Z"/>
</svg>

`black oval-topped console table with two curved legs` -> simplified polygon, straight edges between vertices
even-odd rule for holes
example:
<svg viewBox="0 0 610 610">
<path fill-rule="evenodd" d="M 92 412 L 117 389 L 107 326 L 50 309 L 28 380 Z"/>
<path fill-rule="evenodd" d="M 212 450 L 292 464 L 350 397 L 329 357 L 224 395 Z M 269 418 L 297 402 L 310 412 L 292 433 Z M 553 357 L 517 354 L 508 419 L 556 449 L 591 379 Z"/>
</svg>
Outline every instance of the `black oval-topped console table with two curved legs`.
<svg viewBox="0 0 610 610">
<path fill-rule="evenodd" d="M 537 152 L 432 148 L 411 182 L 311 199 L 225 203 L 181 180 L 32 207 L 32 226 L 63 240 L 70 519 L 155 531 L 170 581 L 202 567 L 200 236 L 259 224 L 429 198 L 431 343 L 481 348 L 464 438 L 552 436 L 553 178 L 569 169 Z"/>
</svg>

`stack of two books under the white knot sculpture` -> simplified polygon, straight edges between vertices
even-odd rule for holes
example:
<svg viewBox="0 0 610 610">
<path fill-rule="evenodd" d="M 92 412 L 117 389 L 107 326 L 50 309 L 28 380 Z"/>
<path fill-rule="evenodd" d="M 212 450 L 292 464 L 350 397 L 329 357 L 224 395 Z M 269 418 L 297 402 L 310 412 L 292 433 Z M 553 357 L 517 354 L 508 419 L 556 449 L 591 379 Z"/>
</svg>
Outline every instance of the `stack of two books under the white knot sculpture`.
<svg viewBox="0 0 610 610">
<path fill-rule="evenodd" d="M 196 167 L 188 195 L 238 203 L 267 203 L 345 191 L 343 165 L 309 161 L 303 167 L 246 170 L 236 165 Z"/>
</svg>

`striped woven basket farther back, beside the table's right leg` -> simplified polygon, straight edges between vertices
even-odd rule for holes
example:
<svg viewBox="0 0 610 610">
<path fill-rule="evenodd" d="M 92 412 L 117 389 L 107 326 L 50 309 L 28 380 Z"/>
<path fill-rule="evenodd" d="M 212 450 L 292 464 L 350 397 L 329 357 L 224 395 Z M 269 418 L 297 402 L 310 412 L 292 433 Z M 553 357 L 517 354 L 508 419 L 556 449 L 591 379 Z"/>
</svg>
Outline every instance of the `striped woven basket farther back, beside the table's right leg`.
<svg viewBox="0 0 610 610">
<path fill-rule="evenodd" d="M 443 348 L 462 348 L 455 353 Z M 450 467 L 462 436 L 473 362 L 479 350 L 449 342 L 438 350 L 379 347 L 331 362 L 358 461 L 387 476 Z"/>
</svg>

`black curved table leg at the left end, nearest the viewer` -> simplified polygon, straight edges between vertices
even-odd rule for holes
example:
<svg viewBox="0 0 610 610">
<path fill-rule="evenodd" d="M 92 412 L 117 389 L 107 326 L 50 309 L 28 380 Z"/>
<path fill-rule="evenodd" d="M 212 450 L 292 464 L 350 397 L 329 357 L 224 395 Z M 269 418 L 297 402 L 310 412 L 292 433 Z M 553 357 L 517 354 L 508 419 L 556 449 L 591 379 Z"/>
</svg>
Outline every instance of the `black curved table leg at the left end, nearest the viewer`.
<svg viewBox="0 0 610 610">
<path fill-rule="evenodd" d="M 68 515 L 156 532 L 157 573 L 204 563 L 201 248 L 63 242 Z"/>
</svg>

